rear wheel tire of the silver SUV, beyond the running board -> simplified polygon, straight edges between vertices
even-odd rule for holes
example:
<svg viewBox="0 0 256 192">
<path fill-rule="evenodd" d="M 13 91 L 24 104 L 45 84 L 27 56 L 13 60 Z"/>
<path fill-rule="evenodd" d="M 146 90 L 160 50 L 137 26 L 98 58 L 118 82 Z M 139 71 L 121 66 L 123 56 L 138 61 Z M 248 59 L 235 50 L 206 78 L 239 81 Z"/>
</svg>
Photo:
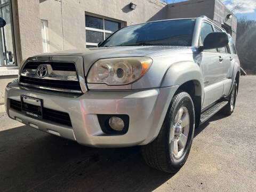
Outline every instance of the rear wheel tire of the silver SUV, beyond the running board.
<svg viewBox="0 0 256 192">
<path fill-rule="evenodd" d="M 237 83 L 234 82 L 232 87 L 231 93 L 228 96 L 228 104 L 221 109 L 221 114 L 223 115 L 231 115 L 234 112 L 235 105 L 236 105 L 236 95 L 237 95 Z"/>
</svg>

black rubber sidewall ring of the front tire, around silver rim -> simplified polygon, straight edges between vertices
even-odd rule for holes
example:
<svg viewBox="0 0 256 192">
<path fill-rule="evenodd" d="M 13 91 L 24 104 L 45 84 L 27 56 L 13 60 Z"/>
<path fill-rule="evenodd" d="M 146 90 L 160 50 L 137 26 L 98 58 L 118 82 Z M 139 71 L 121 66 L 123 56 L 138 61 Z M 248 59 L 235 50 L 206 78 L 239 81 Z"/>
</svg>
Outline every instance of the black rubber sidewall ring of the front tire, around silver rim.
<svg viewBox="0 0 256 192">
<path fill-rule="evenodd" d="M 172 103 L 173 105 L 173 103 Z M 171 164 L 173 167 L 176 167 L 177 169 L 179 169 L 183 164 L 185 164 L 188 155 L 189 155 L 189 151 L 191 148 L 191 144 L 193 141 L 193 137 L 194 137 L 194 128 L 195 128 L 195 111 L 194 111 L 194 105 L 193 105 L 193 101 L 191 99 L 191 97 L 188 94 L 183 95 L 183 97 L 181 97 L 178 101 L 178 103 L 176 104 L 176 106 L 173 108 L 173 111 L 169 111 L 169 122 L 167 123 L 167 146 L 168 146 L 168 150 L 169 149 L 169 137 L 170 137 L 170 130 L 173 126 L 173 122 L 175 119 L 176 114 L 178 113 L 178 110 L 181 107 L 186 107 L 188 109 L 188 113 L 189 113 L 189 134 L 188 134 L 188 140 L 186 143 L 186 147 L 184 149 L 184 152 L 182 154 L 181 157 L 179 158 L 175 158 L 173 156 L 172 153 L 169 153 L 169 164 Z"/>
</svg>

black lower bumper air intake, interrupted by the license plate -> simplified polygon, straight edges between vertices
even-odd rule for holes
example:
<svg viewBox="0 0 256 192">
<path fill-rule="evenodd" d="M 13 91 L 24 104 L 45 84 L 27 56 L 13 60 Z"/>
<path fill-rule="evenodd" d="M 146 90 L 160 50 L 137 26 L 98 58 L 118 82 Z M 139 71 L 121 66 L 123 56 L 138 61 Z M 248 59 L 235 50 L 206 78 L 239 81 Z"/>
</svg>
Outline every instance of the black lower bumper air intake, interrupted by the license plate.
<svg viewBox="0 0 256 192">
<path fill-rule="evenodd" d="M 24 103 L 23 103 L 23 105 L 24 105 Z M 26 109 L 26 111 L 41 115 L 41 111 L 38 110 L 38 108 L 39 108 L 38 106 L 31 105 L 29 103 L 26 103 L 25 105 L 28 105 L 28 109 Z M 10 99 L 10 108 L 17 110 L 17 111 L 21 111 L 21 102 Z M 42 108 L 42 111 L 43 111 L 43 119 L 50 121 L 50 122 L 54 122 L 54 123 L 72 126 L 70 117 L 67 113 L 53 110 L 53 109 L 44 108 L 44 107 Z"/>
</svg>

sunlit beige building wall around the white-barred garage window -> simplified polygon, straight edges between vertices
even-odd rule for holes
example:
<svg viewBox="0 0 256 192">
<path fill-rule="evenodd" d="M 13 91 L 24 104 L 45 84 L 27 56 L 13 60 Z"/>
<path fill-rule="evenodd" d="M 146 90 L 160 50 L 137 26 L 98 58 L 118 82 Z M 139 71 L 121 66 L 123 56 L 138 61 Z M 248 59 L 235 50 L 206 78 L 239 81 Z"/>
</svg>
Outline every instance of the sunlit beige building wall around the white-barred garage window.
<svg viewBox="0 0 256 192">
<path fill-rule="evenodd" d="M 40 2 L 39 17 L 47 20 L 49 25 L 50 51 L 85 47 L 86 12 L 123 21 L 128 26 L 166 19 L 167 15 L 166 3 L 158 0 L 41 0 Z M 137 5 L 135 10 L 129 8 L 131 2 Z"/>
</svg>

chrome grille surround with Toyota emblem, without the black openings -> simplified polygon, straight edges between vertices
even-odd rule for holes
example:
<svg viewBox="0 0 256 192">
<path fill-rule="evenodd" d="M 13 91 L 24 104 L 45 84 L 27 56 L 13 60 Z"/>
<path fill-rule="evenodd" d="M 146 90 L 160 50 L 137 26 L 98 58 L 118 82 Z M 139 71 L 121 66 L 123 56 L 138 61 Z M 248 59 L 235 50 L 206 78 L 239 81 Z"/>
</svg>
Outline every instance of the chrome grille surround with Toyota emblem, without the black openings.
<svg viewBox="0 0 256 192">
<path fill-rule="evenodd" d="M 20 76 L 25 77 L 32 77 L 32 78 L 39 78 L 37 76 L 36 69 L 24 69 L 26 66 L 26 63 L 28 62 L 45 62 L 44 64 L 47 65 L 49 63 L 47 62 L 73 62 L 76 67 L 75 71 L 58 71 L 58 70 L 52 70 L 51 65 L 47 65 L 47 68 L 50 69 L 51 73 L 50 75 L 47 75 L 47 77 L 44 77 L 42 79 L 50 79 L 50 80 L 61 80 L 61 81 L 78 81 L 79 85 L 81 87 L 81 91 L 77 90 L 69 90 L 69 89 L 58 89 L 54 87 L 45 87 L 45 86 L 38 86 L 33 84 L 27 84 L 20 82 Z M 19 83 L 21 85 L 35 87 L 38 89 L 46 89 L 46 90 L 52 90 L 52 91 L 61 91 L 61 92 L 71 92 L 71 93 L 85 93 L 87 92 L 87 86 L 85 84 L 85 74 L 84 74 L 84 65 L 83 65 L 83 58 L 82 57 L 75 57 L 75 56 L 38 56 L 38 57 L 30 57 L 26 60 L 26 62 L 23 63 L 22 66 L 20 66 L 19 71 Z M 62 77 L 60 77 L 60 74 Z M 56 75 L 56 76 L 54 76 Z"/>
</svg>

